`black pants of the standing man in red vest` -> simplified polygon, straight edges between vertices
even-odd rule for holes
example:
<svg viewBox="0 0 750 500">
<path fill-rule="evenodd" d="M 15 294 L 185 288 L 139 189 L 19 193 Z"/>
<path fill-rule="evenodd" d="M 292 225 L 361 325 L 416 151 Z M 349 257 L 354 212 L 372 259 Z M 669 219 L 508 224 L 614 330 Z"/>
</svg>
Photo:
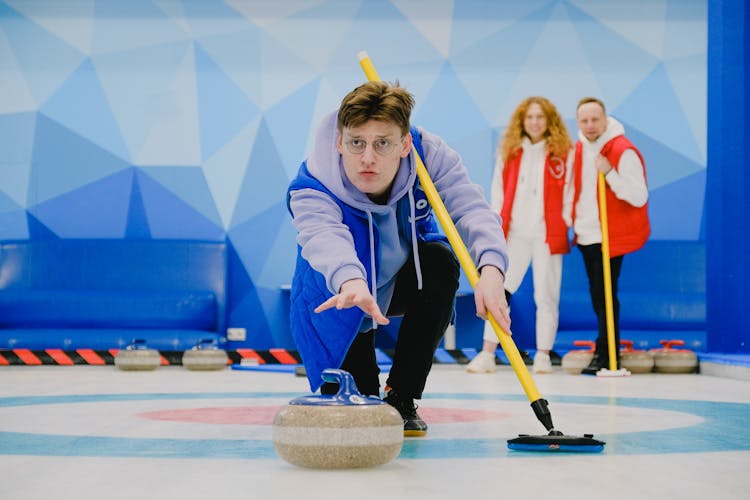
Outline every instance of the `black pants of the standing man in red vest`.
<svg viewBox="0 0 750 500">
<path fill-rule="evenodd" d="M 589 294 L 591 305 L 599 322 L 599 336 L 596 338 L 596 355 L 609 363 L 609 347 L 607 343 L 607 313 L 604 302 L 604 261 L 602 259 L 602 245 L 578 245 L 583 254 L 583 263 L 586 265 L 586 274 L 589 277 Z M 622 258 L 611 257 L 609 259 L 609 270 L 612 283 L 612 319 L 615 324 L 615 353 L 619 362 L 620 352 L 620 301 L 617 299 L 617 282 L 620 279 L 620 268 Z"/>
</svg>

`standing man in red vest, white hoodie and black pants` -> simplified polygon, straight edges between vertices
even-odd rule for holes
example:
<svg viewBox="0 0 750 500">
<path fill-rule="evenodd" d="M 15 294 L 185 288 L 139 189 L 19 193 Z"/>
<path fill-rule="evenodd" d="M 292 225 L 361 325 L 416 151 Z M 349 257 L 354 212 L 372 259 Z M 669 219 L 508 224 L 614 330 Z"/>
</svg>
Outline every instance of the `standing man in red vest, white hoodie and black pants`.
<svg viewBox="0 0 750 500">
<path fill-rule="evenodd" d="M 599 172 L 606 180 L 607 222 L 609 227 L 612 305 L 615 324 L 615 352 L 620 344 L 620 303 L 617 282 L 622 259 L 626 253 L 641 248 L 651 227 L 648 221 L 648 187 L 646 167 L 641 153 L 625 137 L 622 124 L 608 117 L 604 103 L 585 97 L 576 110 L 578 142 L 573 155 L 572 221 L 589 279 L 591 303 L 598 323 L 599 335 L 593 360 L 583 370 L 594 375 L 609 367 L 607 321 L 604 304 L 604 271 L 602 261 L 602 229 L 597 196 Z M 620 367 L 618 354 L 617 367 Z"/>
</svg>

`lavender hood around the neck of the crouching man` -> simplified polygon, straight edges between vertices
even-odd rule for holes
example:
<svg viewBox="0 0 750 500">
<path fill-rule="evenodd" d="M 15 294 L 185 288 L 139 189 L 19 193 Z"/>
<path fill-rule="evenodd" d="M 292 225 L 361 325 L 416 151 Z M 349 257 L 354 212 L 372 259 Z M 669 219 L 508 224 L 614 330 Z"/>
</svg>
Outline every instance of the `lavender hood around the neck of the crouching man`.
<svg viewBox="0 0 750 500">
<path fill-rule="evenodd" d="M 386 205 L 373 203 L 366 194 L 354 187 L 346 177 L 341 154 L 336 148 L 338 138 L 337 116 L 338 110 L 332 111 L 321 121 L 315 134 L 312 153 L 307 158 L 308 171 L 347 205 L 367 212 L 387 212 L 388 207 Z M 387 205 L 396 203 L 414 185 L 417 176 L 415 165 L 414 151 L 412 150 L 409 156 L 401 159 L 401 165 L 396 173 Z"/>
</svg>

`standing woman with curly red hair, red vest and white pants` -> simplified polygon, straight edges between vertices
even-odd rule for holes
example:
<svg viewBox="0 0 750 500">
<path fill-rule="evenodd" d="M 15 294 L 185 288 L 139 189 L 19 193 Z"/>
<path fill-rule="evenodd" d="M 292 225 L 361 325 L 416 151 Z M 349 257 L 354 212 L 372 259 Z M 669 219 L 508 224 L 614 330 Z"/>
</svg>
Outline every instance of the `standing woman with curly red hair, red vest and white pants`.
<svg viewBox="0 0 750 500">
<path fill-rule="evenodd" d="M 500 142 L 491 184 L 491 206 L 500 213 L 508 243 L 505 294 L 510 297 L 533 268 L 536 348 L 533 369 L 552 372 L 550 351 L 559 317 L 562 255 L 570 251 L 564 198 L 571 140 L 554 104 L 528 97 L 515 109 Z M 495 371 L 498 339 L 485 322 L 481 352 L 468 364 L 470 373 Z"/>
</svg>

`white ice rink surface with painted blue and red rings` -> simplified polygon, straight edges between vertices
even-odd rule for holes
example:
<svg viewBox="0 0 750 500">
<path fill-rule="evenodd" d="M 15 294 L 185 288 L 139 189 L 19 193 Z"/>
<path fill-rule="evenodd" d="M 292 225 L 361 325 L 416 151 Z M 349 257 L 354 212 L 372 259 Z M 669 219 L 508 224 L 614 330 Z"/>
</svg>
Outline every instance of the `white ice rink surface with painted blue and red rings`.
<svg viewBox="0 0 750 500">
<path fill-rule="evenodd" d="M 273 448 L 274 415 L 309 394 L 290 372 L 2 367 L 0 498 L 749 498 L 750 381 L 556 369 L 533 375 L 556 428 L 602 453 L 508 450 L 545 433 L 512 369 L 441 364 L 418 402 L 427 437 L 383 466 L 326 471 Z"/>
</svg>

